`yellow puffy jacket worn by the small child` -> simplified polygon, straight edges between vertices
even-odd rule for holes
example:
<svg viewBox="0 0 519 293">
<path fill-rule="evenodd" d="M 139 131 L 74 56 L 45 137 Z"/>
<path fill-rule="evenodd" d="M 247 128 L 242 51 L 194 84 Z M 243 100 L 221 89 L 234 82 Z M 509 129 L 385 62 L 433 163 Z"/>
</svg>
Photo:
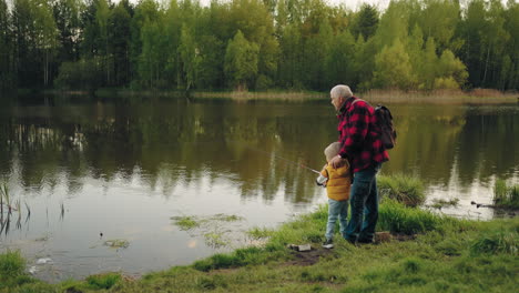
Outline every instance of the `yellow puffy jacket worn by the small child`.
<svg viewBox="0 0 519 293">
<path fill-rule="evenodd" d="M 326 182 L 326 193 L 335 201 L 349 200 L 349 188 L 352 186 L 352 174 L 349 163 L 334 169 L 330 164 L 320 171 L 320 174 L 328 179 Z"/>
</svg>

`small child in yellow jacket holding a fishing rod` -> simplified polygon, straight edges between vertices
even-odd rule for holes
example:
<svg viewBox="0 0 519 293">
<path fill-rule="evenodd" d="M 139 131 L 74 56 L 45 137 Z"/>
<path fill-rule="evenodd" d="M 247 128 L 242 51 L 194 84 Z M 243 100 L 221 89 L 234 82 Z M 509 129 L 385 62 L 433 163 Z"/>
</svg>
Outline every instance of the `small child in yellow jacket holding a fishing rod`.
<svg viewBox="0 0 519 293">
<path fill-rule="evenodd" d="M 329 163 L 338 154 L 339 150 L 339 142 L 334 142 L 325 149 L 324 153 L 328 163 L 323 166 L 320 175 L 317 178 L 317 184 L 326 186 L 326 193 L 328 194 L 328 223 L 326 224 L 326 241 L 323 243 L 325 249 L 334 247 L 334 229 L 337 218 L 339 219 L 340 234 L 343 238 L 346 235 L 349 188 L 352 185 L 349 163 L 346 160 L 346 163 L 337 169 L 334 169 Z"/>
</svg>

